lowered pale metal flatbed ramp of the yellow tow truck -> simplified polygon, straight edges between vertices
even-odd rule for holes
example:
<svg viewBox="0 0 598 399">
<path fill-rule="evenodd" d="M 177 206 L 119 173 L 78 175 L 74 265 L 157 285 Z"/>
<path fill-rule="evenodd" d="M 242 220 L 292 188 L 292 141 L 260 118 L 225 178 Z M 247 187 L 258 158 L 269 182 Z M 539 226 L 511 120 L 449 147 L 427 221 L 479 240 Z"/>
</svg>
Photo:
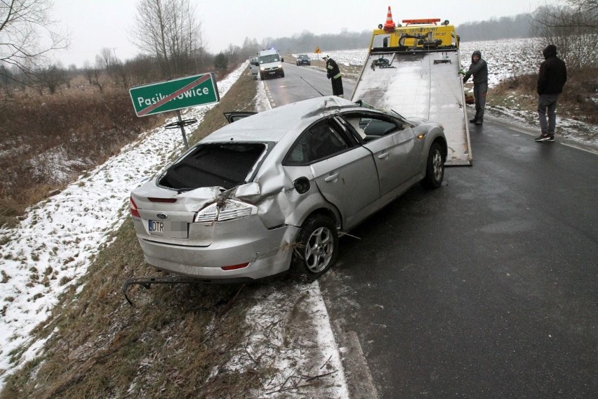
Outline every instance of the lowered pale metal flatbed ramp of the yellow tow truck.
<svg viewBox="0 0 598 399">
<path fill-rule="evenodd" d="M 456 51 L 372 53 L 352 98 L 407 118 L 439 122 L 449 146 L 445 165 L 470 166 L 469 124 L 459 65 Z"/>
</svg>

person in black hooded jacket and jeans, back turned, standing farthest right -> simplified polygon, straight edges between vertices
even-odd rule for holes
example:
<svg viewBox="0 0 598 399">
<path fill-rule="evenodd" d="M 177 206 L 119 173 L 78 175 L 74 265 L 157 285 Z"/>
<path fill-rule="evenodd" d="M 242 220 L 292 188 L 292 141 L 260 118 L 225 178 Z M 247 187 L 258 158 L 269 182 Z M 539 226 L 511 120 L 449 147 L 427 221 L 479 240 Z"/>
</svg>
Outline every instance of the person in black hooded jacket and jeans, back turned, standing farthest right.
<svg viewBox="0 0 598 399">
<path fill-rule="evenodd" d="M 540 64 L 538 73 L 538 117 L 541 133 L 536 141 L 554 141 L 557 100 L 567 81 L 567 67 L 564 61 L 557 57 L 557 46 L 554 44 L 546 46 L 542 54 L 545 60 Z"/>
</svg>

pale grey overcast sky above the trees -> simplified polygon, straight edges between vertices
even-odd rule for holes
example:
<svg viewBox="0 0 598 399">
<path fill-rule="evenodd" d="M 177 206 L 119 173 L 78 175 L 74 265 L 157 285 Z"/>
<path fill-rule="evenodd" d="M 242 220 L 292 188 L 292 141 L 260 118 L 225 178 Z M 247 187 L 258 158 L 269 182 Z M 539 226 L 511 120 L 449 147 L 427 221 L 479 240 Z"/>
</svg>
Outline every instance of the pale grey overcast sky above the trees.
<svg viewBox="0 0 598 399">
<path fill-rule="evenodd" d="M 191 0 L 197 6 L 208 51 L 218 53 L 229 44 L 241 46 L 246 37 L 260 43 L 266 37 L 291 37 L 303 31 L 337 34 L 343 30 L 373 30 L 384 23 L 388 6 L 395 23 L 408 18 L 441 18 L 455 25 L 476 20 L 528 13 L 547 1 L 380 1 L 380 0 Z M 121 60 L 138 50 L 130 33 L 138 0 L 54 0 L 57 27 L 69 32 L 69 51 L 55 59 L 64 67 L 93 65 L 102 48 L 110 48 Z M 366 46 L 366 45 L 364 45 Z M 325 51 L 325 49 L 323 49 Z"/>
</svg>

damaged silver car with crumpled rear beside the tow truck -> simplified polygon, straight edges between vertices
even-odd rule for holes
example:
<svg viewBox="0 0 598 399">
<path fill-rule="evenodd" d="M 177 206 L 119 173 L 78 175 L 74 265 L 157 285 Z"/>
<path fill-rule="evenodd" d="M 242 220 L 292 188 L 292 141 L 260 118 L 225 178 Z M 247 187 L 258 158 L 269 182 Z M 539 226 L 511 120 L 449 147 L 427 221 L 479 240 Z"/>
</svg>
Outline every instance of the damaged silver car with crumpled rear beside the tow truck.
<svg viewBox="0 0 598 399">
<path fill-rule="evenodd" d="M 335 96 L 240 117 L 131 193 L 147 263 L 206 282 L 314 279 L 335 263 L 339 235 L 444 178 L 434 122 Z"/>
</svg>

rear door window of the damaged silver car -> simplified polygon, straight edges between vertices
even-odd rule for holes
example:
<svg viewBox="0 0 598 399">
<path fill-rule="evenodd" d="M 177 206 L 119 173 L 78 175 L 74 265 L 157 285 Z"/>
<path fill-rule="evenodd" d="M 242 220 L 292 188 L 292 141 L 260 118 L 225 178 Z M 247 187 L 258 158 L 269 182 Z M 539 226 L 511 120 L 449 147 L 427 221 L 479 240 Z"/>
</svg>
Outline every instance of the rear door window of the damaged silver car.
<svg viewBox="0 0 598 399">
<path fill-rule="evenodd" d="M 350 144 L 331 121 L 320 122 L 301 133 L 284 164 L 310 164 L 350 148 Z"/>
</svg>

